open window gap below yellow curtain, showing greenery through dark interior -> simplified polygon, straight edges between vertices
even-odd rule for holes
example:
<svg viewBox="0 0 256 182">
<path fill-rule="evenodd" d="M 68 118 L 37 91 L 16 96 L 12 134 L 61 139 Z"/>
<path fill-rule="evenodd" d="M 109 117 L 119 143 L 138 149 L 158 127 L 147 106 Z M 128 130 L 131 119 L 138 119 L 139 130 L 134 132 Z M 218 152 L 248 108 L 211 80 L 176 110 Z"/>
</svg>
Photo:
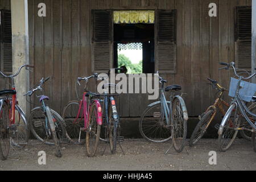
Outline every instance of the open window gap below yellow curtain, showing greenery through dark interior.
<svg viewBox="0 0 256 182">
<path fill-rule="evenodd" d="M 127 73 L 154 73 L 154 24 L 114 24 L 114 67 Z"/>
</svg>

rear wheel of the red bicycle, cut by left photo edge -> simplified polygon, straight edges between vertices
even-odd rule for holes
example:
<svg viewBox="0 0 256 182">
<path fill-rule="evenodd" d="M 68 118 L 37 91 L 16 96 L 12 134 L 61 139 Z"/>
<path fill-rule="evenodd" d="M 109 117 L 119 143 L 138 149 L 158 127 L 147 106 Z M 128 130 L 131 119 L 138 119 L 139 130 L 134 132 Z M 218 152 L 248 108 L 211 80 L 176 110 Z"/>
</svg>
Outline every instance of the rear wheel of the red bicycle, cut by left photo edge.
<svg viewBox="0 0 256 182">
<path fill-rule="evenodd" d="M 6 160 L 10 150 L 9 108 L 4 102 L 0 110 L 0 158 Z"/>
</svg>

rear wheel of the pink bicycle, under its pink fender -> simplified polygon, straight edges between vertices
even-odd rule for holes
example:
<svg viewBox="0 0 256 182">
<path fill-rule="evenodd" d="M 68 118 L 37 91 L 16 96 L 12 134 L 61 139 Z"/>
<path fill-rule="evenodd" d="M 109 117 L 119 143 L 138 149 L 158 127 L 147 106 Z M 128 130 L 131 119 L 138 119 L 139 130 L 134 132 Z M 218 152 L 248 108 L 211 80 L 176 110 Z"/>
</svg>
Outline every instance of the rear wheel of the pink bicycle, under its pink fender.
<svg viewBox="0 0 256 182">
<path fill-rule="evenodd" d="M 101 126 L 97 123 L 97 106 L 92 104 L 89 110 L 88 119 L 89 131 L 86 131 L 86 150 L 89 157 L 96 154 L 98 140 L 100 139 Z"/>
</svg>

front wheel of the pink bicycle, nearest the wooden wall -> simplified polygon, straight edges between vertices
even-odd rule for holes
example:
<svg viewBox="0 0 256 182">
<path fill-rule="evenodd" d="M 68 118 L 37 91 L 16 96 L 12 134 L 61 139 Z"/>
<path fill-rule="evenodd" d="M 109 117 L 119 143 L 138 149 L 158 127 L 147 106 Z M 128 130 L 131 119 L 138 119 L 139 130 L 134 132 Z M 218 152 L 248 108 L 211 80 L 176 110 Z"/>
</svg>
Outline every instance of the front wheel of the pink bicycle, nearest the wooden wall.
<svg viewBox="0 0 256 182">
<path fill-rule="evenodd" d="M 84 132 L 80 132 L 81 128 L 84 127 L 84 117 L 82 117 L 82 112 L 84 111 L 84 107 L 82 106 L 80 109 L 80 115 L 77 118 L 77 114 L 79 112 L 79 101 L 74 101 L 65 106 L 63 111 L 63 119 L 65 121 L 66 130 L 69 137 L 72 138 L 75 143 L 85 143 Z M 80 141 L 79 141 L 80 135 Z"/>
</svg>

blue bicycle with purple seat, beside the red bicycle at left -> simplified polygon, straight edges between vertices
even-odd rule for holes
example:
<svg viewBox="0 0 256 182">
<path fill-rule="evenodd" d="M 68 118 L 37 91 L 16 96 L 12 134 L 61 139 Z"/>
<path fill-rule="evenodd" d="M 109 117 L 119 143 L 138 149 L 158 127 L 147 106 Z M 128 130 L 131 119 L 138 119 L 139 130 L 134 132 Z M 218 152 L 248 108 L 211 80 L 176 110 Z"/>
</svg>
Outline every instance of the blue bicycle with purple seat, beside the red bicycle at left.
<svg viewBox="0 0 256 182">
<path fill-rule="evenodd" d="M 63 140 L 66 137 L 69 140 L 70 138 L 65 130 L 63 118 L 61 118 L 56 111 L 50 109 L 46 104 L 49 97 L 44 96 L 42 86 L 48 80 L 49 77 L 45 80 L 42 78 L 38 85 L 33 86 L 26 94 L 24 94 L 24 96 L 31 97 L 37 90 L 42 92 L 41 96 L 36 96 L 39 98 L 41 105 L 31 110 L 28 123 L 30 125 L 30 131 L 36 139 L 42 143 L 55 145 L 56 156 L 60 158 L 62 156 L 60 144 L 64 143 Z"/>
</svg>

